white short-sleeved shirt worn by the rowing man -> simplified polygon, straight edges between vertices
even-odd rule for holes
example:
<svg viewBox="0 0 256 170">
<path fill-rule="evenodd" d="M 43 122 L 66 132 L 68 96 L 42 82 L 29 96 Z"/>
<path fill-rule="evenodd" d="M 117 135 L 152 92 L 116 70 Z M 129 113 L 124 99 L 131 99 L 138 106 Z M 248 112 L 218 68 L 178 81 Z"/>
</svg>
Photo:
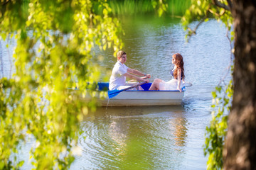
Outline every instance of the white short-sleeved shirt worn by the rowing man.
<svg viewBox="0 0 256 170">
<path fill-rule="evenodd" d="M 114 68 L 110 77 L 110 90 L 116 90 L 119 86 L 124 86 L 126 84 L 126 77 L 123 76 L 123 74 L 127 73 L 128 68 L 129 67 L 119 61 L 114 64 Z"/>
</svg>

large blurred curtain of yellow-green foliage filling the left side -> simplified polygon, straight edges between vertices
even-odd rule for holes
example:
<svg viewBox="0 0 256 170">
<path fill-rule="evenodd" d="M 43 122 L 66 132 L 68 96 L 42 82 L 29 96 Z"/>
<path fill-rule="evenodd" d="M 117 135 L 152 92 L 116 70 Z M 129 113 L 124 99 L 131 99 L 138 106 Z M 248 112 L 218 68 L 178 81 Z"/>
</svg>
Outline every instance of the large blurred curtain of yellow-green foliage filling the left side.
<svg viewBox="0 0 256 170">
<path fill-rule="evenodd" d="M 68 169 L 80 152 L 81 120 L 96 108 L 93 98 L 79 100 L 95 95 L 102 72 L 92 49 L 112 48 L 115 56 L 120 23 L 106 0 L 0 2 L 0 38 L 16 38 L 16 74 L 0 79 L 0 169 L 19 169 L 18 152 L 29 140 L 35 169 Z M 151 4 L 159 16 L 166 11 L 163 1 Z"/>
</svg>

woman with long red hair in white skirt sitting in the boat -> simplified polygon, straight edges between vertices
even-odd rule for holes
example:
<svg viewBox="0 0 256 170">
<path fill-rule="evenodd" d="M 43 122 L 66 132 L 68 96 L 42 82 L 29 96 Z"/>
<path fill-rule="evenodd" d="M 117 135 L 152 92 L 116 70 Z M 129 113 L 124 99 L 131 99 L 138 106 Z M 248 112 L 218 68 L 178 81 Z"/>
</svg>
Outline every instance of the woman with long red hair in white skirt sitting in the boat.
<svg viewBox="0 0 256 170">
<path fill-rule="evenodd" d="M 161 90 L 161 91 L 180 91 L 182 84 L 184 83 L 184 62 L 181 54 L 176 53 L 172 56 L 171 62 L 174 64 L 174 69 L 171 70 L 171 75 L 174 79 L 170 81 L 164 81 L 161 79 L 154 79 L 149 90 Z"/>
</svg>

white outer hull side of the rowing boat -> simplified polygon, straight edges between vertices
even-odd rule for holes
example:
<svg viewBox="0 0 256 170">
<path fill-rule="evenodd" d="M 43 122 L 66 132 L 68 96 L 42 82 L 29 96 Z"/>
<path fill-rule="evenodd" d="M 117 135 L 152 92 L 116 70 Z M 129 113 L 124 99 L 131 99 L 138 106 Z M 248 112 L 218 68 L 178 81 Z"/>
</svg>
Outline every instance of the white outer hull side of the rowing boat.
<svg viewBox="0 0 256 170">
<path fill-rule="evenodd" d="M 113 98 L 97 101 L 101 106 L 168 106 L 181 104 L 183 96 L 184 91 L 122 91 Z"/>
</svg>

